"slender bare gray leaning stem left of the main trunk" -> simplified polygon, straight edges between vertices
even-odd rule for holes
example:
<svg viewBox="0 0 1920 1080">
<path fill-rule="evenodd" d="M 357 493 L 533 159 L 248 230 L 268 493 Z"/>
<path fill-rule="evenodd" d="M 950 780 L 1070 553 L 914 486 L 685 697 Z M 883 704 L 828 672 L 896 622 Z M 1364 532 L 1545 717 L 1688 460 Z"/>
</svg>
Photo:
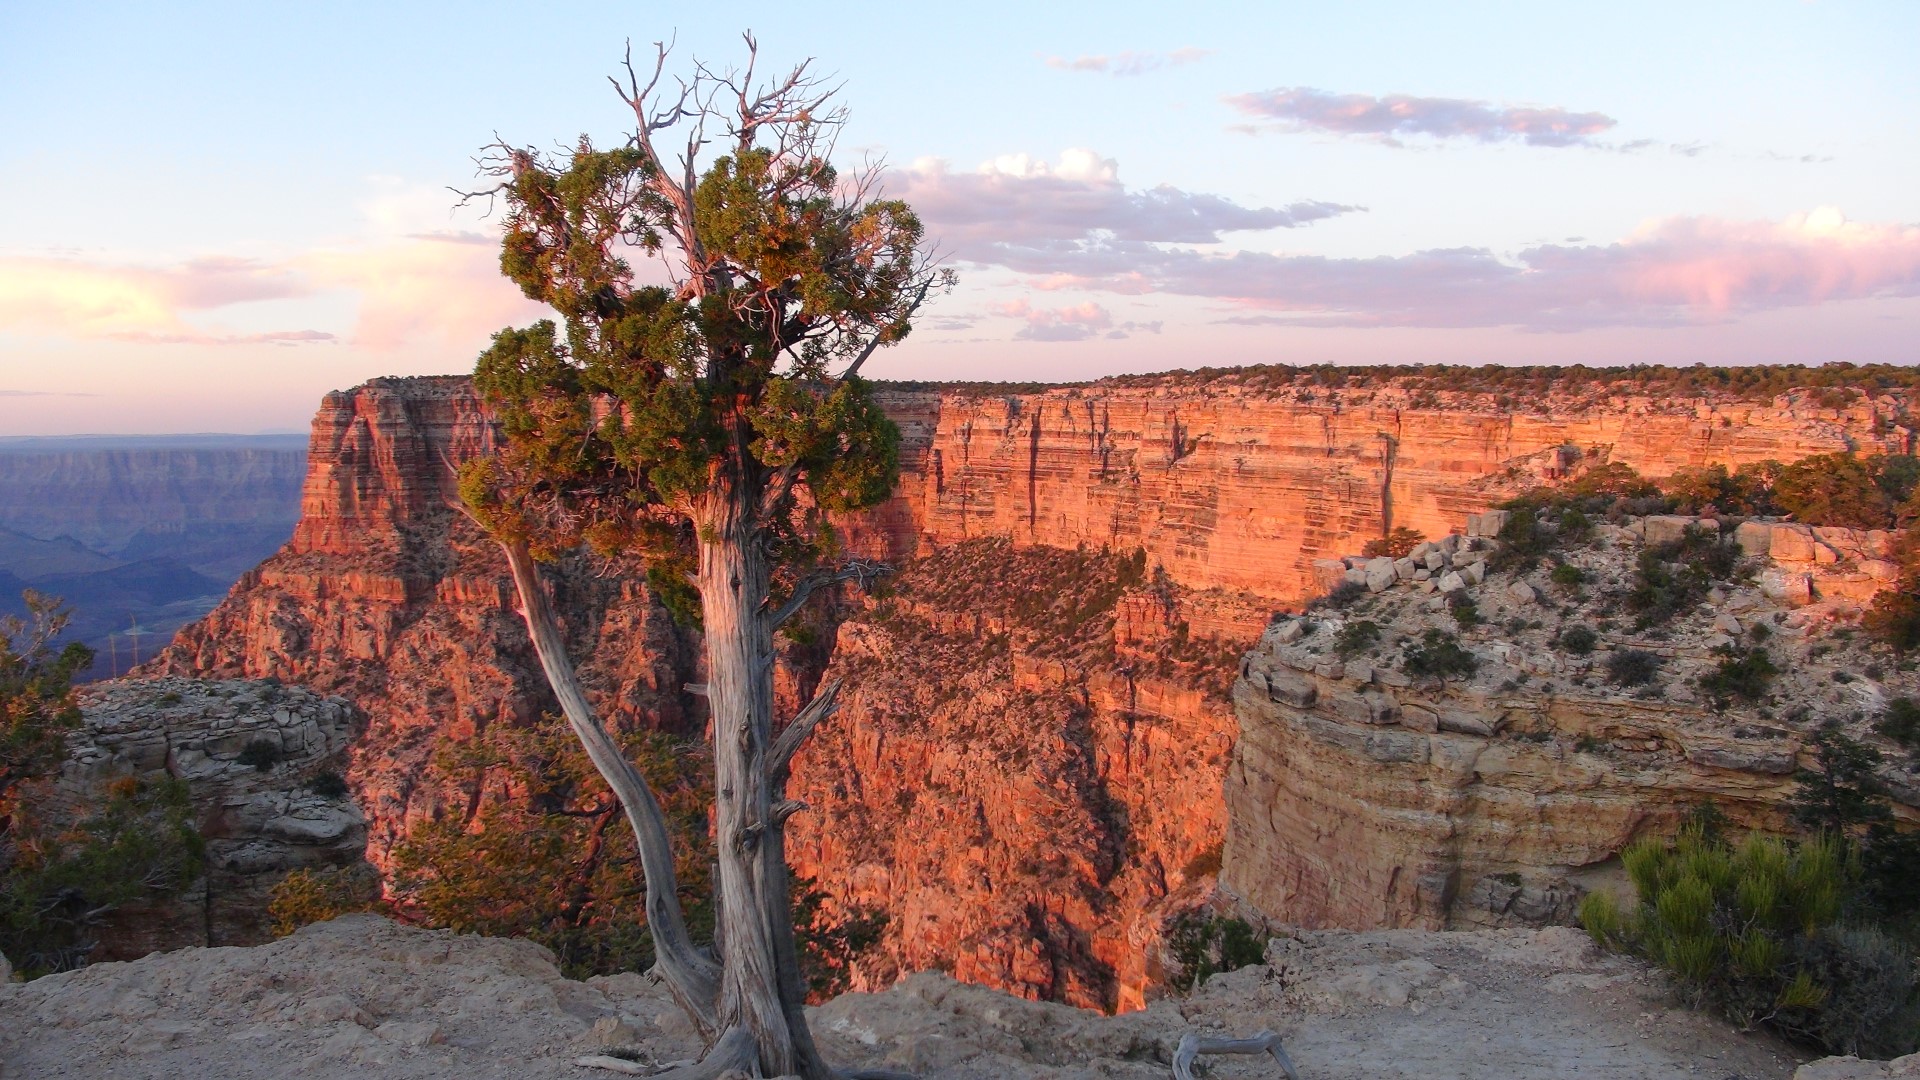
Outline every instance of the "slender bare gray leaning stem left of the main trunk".
<svg viewBox="0 0 1920 1080">
<path fill-rule="evenodd" d="M 561 638 L 559 621 L 547 603 L 547 590 L 540 584 L 540 571 L 524 540 L 503 540 L 507 567 L 513 571 L 513 584 L 520 594 L 520 615 L 526 619 L 526 632 L 534 640 L 534 653 L 547 673 L 553 696 L 566 713 L 574 736 L 586 748 L 601 778 L 620 798 L 626 807 L 626 821 L 634 826 L 639 842 L 639 865 L 647 876 L 647 926 L 653 932 L 653 947 L 659 957 L 660 974 L 680 1001 L 687 1017 L 703 1034 L 718 1028 L 716 1001 L 720 995 L 720 967 L 714 965 L 687 934 L 687 920 L 680 911 L 678 882 L 674 874 L 674 842 L 666 832 L 666 815 L 660 813 L 659 799 L 647 778 L 634 769 L 634 763 L 620 753 L 620 746 L 601 726 L 574 673 L 574 663 L 566 657 L 566 642 Z"/>
</svg>

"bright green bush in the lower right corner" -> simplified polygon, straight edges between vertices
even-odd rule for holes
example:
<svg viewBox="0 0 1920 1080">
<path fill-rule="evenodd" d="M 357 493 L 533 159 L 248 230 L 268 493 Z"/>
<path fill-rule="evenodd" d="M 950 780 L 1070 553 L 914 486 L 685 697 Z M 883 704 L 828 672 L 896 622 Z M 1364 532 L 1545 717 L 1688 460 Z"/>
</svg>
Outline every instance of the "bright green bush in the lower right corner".
<svg viewBox="0 0 1920 1080">
<path fill-rule="evenodd" d="M 1885 934 L 1841 922 L 1853 886 L 1834 836 L 1738 846 L 1688 826 L 1672 844 L 1620 853 L 1638 903 L 1590 894 L 1580 922 L 1601 947 L 1668 969 L 1695 1007 L 1770 1026 L 1832 1053 L 1920 1045 L 1912 957 Z"/>
</svg>

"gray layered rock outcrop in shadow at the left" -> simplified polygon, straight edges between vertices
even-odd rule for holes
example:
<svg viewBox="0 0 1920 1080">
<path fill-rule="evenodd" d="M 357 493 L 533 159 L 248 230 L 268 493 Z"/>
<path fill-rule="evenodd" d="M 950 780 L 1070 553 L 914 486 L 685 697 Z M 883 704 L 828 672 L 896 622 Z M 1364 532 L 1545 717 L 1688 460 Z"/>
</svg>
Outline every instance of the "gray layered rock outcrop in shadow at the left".
<svg viewBox="0 0 1920 1080">
<path fill-rule="evenodd" d="M 33 815 L 60 826 L 106 801 L 115 780 L 177 776 L 207 847 L 184 892 L 108 915 L 90 961 L 265 942 L 280 878 L 361 861 L 359 807 L 315 784 L 346 767 L 361 721 L 351 703 L 276 682 L 156 678 L 86 686 L 81 715 L 67 765 L 33 798 Z"/>
</svg>

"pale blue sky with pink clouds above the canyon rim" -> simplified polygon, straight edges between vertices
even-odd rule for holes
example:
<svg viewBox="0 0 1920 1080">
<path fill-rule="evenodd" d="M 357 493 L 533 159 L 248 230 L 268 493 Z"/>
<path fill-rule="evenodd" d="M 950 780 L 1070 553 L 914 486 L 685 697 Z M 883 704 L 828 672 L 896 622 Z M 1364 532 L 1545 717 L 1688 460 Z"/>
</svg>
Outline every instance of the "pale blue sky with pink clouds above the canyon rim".
<svg viewBox="0 0 1920 1080">
<path fill-rule="evenodd" d="M 1910 2 L 0 0 L 0 434 L 470 371 L 543 313 L 474 154 L 749 29 L 958 271 L 874 377 L 1920 361 Z"/>
</svg>

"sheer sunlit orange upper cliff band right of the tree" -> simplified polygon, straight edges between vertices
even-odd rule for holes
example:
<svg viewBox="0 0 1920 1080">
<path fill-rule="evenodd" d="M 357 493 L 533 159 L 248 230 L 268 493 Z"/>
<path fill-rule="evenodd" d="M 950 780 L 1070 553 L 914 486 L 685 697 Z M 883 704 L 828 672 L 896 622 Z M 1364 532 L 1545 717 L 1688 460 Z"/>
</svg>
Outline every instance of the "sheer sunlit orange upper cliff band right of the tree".
<svg viewBox="0 0 1920 1080">
<path fill-rule="evenodd" d="M 1313 559 L 1392 527 L 1444 536 L 1578 455 L 1667 477 L 1849 446 L 1905 450 L 1903 432 L 1876 423 L 1899 407 L 1607 394 L 1501 404 L 1260 377 L 943 392 L 900 498 L 935 544 L 1144 546 L 1185 586 L 1296 603 L 1319 592 Z M 1258 625 L 1240 630 L 1252 638 Z"/>
</svg>

